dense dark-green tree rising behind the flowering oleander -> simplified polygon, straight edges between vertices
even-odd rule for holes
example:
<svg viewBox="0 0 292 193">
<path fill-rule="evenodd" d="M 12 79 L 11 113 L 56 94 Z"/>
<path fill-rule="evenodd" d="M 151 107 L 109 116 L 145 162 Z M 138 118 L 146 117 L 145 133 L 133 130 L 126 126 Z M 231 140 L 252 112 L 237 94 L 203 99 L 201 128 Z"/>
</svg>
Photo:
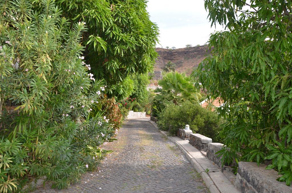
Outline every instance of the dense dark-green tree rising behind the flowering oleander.
<svg viewBox="0 0 292 193">
<path fill-rule="evenodd" d="M 109 87 L 118 88 L 127 76 L 148 73 L 153 68 L 158 28 L 150 21 L 144 0 L 55 3 L 72 24 L 86 23 L 88 29 L 82 38 L 86 46 L 84 56 L 97 80 L 105 79 Z M 117 91 L 108 94 L 112 93 Z"/>
</svg>

